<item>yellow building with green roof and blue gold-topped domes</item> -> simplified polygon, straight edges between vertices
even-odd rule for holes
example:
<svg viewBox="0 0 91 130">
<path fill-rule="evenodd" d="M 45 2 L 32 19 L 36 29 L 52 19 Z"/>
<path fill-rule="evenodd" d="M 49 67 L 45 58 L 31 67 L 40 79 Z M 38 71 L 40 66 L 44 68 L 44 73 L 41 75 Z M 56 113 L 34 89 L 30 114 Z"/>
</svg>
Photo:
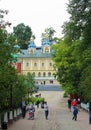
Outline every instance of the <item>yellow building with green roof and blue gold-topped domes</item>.
<svg viewBox="0 0 91 130">
<path fill-rule="evenodd" d="M 18 54 L 18 62 L 21 63 L 21 73 L 28 72 L 35 76 L 37 84 L 57 84 L 54 77 L 55 70 L 52 61 L 52 43 L 47 35 L 42 40 L 41 47 L 36 47 L 33 37 L 30 39 L 28 49 L 21 50 Z"/>
</svg>

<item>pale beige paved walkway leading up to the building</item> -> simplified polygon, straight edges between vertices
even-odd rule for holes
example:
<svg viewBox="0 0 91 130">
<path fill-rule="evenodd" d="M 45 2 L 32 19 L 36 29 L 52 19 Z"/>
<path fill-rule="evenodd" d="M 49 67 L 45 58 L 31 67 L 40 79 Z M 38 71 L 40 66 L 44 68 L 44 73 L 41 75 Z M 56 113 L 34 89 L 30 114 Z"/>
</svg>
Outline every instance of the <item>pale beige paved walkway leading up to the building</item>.
<svg viewBox="0 0 91 130">
<path fill-rule="evenodd" d="M 8 127 L 8 130 L 91 130 L 88 123 L 88 113 L 81 110 L 78 120 L 72 120 L 72 112 L 68 111 L 67 99 L 63 98 L 63 92 L 43 91 L 41 95 L 49 105 L 49 117 L 45 119 L 44 110 L 36 107 L 35 119 L 18 119 Z"/>
</svg>

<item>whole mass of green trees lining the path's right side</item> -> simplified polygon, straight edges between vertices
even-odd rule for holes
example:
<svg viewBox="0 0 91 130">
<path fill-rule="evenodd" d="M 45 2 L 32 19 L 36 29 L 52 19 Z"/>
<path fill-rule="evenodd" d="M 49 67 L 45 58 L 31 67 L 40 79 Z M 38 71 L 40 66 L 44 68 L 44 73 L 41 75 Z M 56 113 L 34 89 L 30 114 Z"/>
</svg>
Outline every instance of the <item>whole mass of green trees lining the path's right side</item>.
<svg viewBox="0 0 91 130">
<path fill-rule="evenodd" d="M 91 97 L 90 0 L 69 0 L 68 13 L 70 19 L 62 26 L 63 40 L 53 45 L 54 66 L 58 70 L 57 78 L 65 91 L 78 93 L 81 100 L 87 101 Z M 86 73 L 88 70 L 89 74 Z"/>
</svg>

